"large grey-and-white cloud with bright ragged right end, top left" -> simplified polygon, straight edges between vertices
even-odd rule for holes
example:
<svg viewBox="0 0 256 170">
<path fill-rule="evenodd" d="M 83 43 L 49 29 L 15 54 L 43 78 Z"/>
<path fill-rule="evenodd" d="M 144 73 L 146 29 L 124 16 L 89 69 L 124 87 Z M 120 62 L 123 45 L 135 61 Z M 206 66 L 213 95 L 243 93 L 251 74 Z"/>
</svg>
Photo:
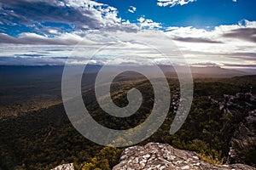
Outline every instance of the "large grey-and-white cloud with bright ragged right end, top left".
<svg viewBox="0 0 256 170">
<path fill-rule="evenodd" d="M 19 20 L 18 24 L 32 29 L 44 22 L 74 25 L 77 30 L 100 29 L 121 23 L 116 8 L 90 0 L 20 0 L 7 1 L 4 6 L 5 16 L 0 16 L 3 23 L 13 24 L 13 20 Z M 39 27 L 38 31 L 47 30 L 42 25 Z"/>
</svg>

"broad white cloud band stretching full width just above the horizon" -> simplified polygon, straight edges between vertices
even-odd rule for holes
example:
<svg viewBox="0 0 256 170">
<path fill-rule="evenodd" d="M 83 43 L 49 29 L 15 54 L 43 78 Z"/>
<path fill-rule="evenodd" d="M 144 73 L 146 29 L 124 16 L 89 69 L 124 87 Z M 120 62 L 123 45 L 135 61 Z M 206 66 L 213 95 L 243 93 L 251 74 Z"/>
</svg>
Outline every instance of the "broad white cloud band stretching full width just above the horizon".
<svg viewBox="0 0 256 170">
<path fill-rule="evenodd" d="M 154 27 L 155 23 L 152 20 L 143 17 L 138 19 L 141 27 Z M 135 26 L 134 24 L 127 24 L 122 26 Z M 157 25 L 158 26 L 158 25 Z M 163 29 L 163 28 L 162 28 Z M 161 29 L 161 30 L 162 30 Z M 128 63 L 146 64 L 148 62 L 155 62 L 158 64 L 166 64 L 166 59 L 162 57 L 157 51 L 148 48 L 141 42 L 152 42 L 157 45 L 157 48 L 170 48 L 170 55 L 172 60 L 179 62 L 178 50 L 180 50 L 188 62 L 192 65 L 256 65 L 256 46 L 253 42 L 253 32 L 256 29 L 255 21 L 243 20 L 236 25 L 216 26 L 212 30 L 197 29 L 192 26 L 188 27 L 170 27 L 166 31 L 160 30 L 140 30 L 126 31 L 119 29 L 119 31 L 112 30 L 90 30 L 90 31 L 74 31 L 73 33 L 61 33 L 55 37 L 44 37 L 35 33 L 23 33 L 19 38 L 11 38 L 7 35 L 0 34 L 0 41 L 4 38 L 9 42 L 16 42 L 15 45 L 0 46 L 2 57 L 22 56 L 26 54 L 23 59 L 12 59 L 13 62 L 22 61 L 25 63 L 29 59 L 30 65 L 36 62 L 38 55 L 45 54 L 41 57 L 40 63 L 52 62 L 53 64 L 60 64 L 61 59 L 52 58 L 67 57 L 73 50 L 74 45 L 80 42 L 84 48 L 84 53 L 81 53 L 80 58 L 72 59 L 72 63 L 83 63 L 90 57 L 90 51 L 96 48 L 101 48 L 104 45 L 110 45 L 108 49 L 99 52 L 98 59 L 94 62 L 104 64 L 112 59 L 113 56 L 118 55 L 119 59 L 115 59 L 113 64 Z M 240 33 L 242 32 L 242 34 Z M 174 42 L 170 44 L 171 38 Z M 232 34 L 230 36 L 230 33 Z M 237 36 L 233 36 L 237 34 Z M 228 36 L 227 36 L 228 35 Z M 17 42 L 22 42 L 25 45 L 17 45 Z M 172 42 L 172 41 L 171 41 Z M 66 44 L 63 44 L 66 43 Z M 38 44 L 38 45 L 34 45 Z M 111 45 L 116 44 L 116 45 Z M 27 55 L 28 54 L 28 55 Z M 36 55 L 34 55 L 36 54 Z M 33 56 L 34 55 L 34 56 Z M 109 58 L 109 56 L 112 56 Z M 50 57 L 50 59 L 48 58 Z M 35 59 L 32 59 L 35 58 Z M 85 59 L 83 61 L 83 59 Z M 65 59 L 64 59 L 65 60 Z M 148 61 L 149 60 L 149 61 Z M 2 62 L 7 62 L 3 60 Z M 63 62 L 62 62 L 63 63 Z M 2 63 L 3 64 L 3 63 Z"/>
</svg>

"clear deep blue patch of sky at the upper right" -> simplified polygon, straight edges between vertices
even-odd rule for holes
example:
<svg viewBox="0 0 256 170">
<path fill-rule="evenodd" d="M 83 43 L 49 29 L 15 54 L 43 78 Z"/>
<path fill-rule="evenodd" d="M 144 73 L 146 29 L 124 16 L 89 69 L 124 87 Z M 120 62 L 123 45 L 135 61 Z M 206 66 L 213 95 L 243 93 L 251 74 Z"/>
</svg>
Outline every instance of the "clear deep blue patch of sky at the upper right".
<svg viewBox="0 0 256 170">
<path fill-rule="evenodd" d="M 119 16 L 131 22 L 145 16 L 163 26 L 219 26 L 235 24 L 239 20 L 255 20 L 256 5 L 253 0 L 197 0 L 186 5 L 160 7 L 155 1 L 148 0 L 98 0 L 119 9 Z M 129 13 L 130 6 L 136 7 L 135 13 Z"/>
</svg>

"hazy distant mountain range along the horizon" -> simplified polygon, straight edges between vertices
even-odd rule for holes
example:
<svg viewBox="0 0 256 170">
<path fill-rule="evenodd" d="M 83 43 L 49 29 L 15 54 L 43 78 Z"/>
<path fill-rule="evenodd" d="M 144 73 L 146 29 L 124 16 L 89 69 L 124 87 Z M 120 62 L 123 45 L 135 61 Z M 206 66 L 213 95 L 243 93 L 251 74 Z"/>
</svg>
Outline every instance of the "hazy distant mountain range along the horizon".
<svg viewBox="0 0 256 170">
<path fill-rule="evenodd" d="M 81 65 L 77 65 L 81 66 Z M 107 71 L 112 72 L 118 70 L 120 67 L 137 67 L 145 69 L 148 73 L 158 76 L 157 73 L 152 71 L 150 65 L 110 65 L 107 67 Z M 176 70 L 170 65 L 159 65 L 160 69 L 170 77 L 176 77 Z M 0 65 L 0 77 L 6 77 L 11 75 L 24 74 L 26 76 L 34 76 L 39 74 L 40 76 L 61 76 L 64 66 L 63 65 L 44 65 L 44 66 L 26 66 L 26 65 Z M 96 73 L 102 68 L 102 65 L 86 65 L 85 71 L 88 73 Z M 178 71 L 183 73 L 183 66 L 176 66 Z M 185 67 L 184 67 L 185 68 Z M 237 77 L 252 75 L 253 72 L 249 71 L 239 71 L 235 69 L 224 69 L 219 66 L 206 66 L 197 67 L 190 66 L 191 73 L 193 77 Z M 255 72 L 256 73 L 256 72 Z"/>
</svg>

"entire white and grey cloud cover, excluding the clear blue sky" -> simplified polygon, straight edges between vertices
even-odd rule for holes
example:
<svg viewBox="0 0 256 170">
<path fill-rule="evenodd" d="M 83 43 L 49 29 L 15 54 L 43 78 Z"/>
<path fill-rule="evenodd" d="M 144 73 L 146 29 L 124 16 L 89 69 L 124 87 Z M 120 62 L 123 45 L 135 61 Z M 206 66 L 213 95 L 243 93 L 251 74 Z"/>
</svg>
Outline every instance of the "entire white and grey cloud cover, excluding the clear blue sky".
<svg viewBox="0 0 256 170">
<path fill-rule="evenodd" d="M 173 7 L 193 2 L 195 0 L 158 0 L 157 5 Z M 210 29 L 165 27 L 145 16 L 138 17 L 137 23 L 131 23 L 119 17 L 117 8 L 90 0 L 4 3 L 0 0 L 0 8 L 0 65 L 61 65 L 78 43 L 84 51 L 114 43 L 126 47 L 126 50 L 111 49 L 119 50 L 118 54 L 123 57 L 116 64 L 144 64 L 147 59 L 165 64 L 160 54 L 141 43 L 150 37 L 152 42 L 170 48 L 170 44 L 156 36 L 158 34 L 172 39 L 191 65 L 256 65 L 256 21 L 241 20 L 234 25 Z M 136 11 L 134 6 L 128 8 L 130 13 Z M 15 36 L 6 33 L 8 28 L 15 32 Z M 141 42 L 134 41 L 133 37 L 139 37 Z M 111 58 L 111 50 L 92 62 L 106 63 Z M 175 58 L 175 51 L 171 55 Z M 77 56 L 72 62 L 82 64 L 86 59 L 88 56 Z"/>
</svg>

